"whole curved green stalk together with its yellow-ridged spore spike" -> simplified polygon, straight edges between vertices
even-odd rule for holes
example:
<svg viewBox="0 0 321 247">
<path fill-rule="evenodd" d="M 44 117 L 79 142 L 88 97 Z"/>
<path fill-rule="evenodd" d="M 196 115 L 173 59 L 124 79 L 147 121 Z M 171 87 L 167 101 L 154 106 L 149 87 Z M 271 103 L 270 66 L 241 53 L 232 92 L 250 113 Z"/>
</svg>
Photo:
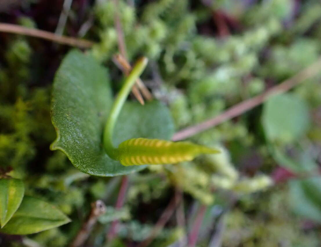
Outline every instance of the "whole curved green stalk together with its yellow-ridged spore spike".
<svg viewBox="0 0 321 247">
<path fill-rule="evenodd" d="M 107 155 L 114 160 L 120 161 L 124 166 L 131 166 L 174 164 L 181 161 L 191 161 L 195 156 L 202 153 L 218 153 L 218 150 L 191 142 L 169 142 L 146 138 L 129 139 L 119 144 L 118 148 L 114 147 L 112 134 L 116 120 L 131 87 L 143 72 L 146 64 L 147 58 L 145 57 L 135 63 L 109 112 L 103 135 L 103 144 Z"/>
</svg>

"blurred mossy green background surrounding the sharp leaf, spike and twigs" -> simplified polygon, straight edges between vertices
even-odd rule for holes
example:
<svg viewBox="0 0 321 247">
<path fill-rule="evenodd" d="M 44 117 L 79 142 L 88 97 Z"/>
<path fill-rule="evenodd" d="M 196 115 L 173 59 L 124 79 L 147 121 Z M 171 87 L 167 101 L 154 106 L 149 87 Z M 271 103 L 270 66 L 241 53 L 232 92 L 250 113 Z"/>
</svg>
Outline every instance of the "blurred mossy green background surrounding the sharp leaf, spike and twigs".
<svg viewBox="0 0 321 247">
<path fill-rule="evenodd" d="M 0 21 L 51 32 L 63 4 L 3 2 Z M 117 5 L 74 0 L 64 34 L 96 42 L 85 52 L 108 67 L 115 92 L 122 79 L 111 61 L 118 50 L 115 13 L 128 60 L 149 57 L 144 82 L 169 106 L 177 130 L 277 85 L 317 60 L 321 50 L 321 4 L 315 0 L 119 0 Z M 30 239 L 43 246 L 67 245 L 90 203 L 101 199 L 107 212 L 87 246 L 102 246 L 115 219 L 121 224 L 113 246 L 135 246 L 150 234 L 179 188 L 186 224 L 171 217 L 151 246 L 184 246 L 203 206 L 197 246 L 217 246 L 217 240 L 227 247 L 320 246 L 320 74 L 190 138 L 220 147 L 221 154 L 129 175 L 125 206 L 115 211 L 120 177 L 90 177 L 65 154 L 49 150 L 55 139 L 51 83 L 69 49 L 0 33 L 0 169 L 12 170 L 9 175 L 24 180 L 26 194 L 56 205 L 72 219 Z M 5 235 L 0 241 L 22 245 Z"/>
</svg>

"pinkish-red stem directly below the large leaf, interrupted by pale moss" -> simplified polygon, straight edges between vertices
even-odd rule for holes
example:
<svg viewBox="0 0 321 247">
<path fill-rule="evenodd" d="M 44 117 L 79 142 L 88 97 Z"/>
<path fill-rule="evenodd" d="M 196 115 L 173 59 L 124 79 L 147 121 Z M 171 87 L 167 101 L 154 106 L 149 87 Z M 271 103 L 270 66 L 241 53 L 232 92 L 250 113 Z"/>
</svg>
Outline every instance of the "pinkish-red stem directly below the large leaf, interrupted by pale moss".
<svg viewBox="0 0 321 247">
<path fill-rule="evenodd" d="M 122 181 L 121 181 L 121 185 L 120 185 L 120 189 L 117 197 L 117 202 L 115 205 L 116 210 L 121 209 L 124 205 L 127 187 L 128 187 L 128 177 L 124 175 L 122 177 Z M 118 230 L 118 225 L 119 225 L 118 223 L 119 223 L 118 220 L 114 220 L 111 223 L 110 229 L 107 233 L 108 242 L 111 242 L 115 238 Z"/>
</svg>

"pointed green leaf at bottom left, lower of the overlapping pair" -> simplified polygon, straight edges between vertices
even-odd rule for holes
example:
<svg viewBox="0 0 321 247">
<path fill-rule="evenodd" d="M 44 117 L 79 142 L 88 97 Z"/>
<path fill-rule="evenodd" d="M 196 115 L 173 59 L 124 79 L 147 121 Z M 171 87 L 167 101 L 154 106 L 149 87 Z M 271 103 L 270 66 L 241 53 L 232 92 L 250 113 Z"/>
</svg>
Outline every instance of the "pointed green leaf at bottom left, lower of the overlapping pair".
<svg viewBox="0 0 321 247">
<path fill-rule="evenodd" d="M 60 210 L 48 202 L 25 196 L 19 209 L 0 230 L 1 233 L 25 235 L 41 232 L 70 222 Z"/>
</svg>

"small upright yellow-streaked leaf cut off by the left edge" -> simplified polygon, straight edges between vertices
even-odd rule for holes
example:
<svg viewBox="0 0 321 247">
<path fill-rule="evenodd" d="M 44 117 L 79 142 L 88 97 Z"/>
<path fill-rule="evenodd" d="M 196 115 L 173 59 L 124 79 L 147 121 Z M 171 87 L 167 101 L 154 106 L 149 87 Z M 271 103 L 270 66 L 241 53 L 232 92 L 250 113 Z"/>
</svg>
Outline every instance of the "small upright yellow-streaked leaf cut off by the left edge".
<svg viewBox="0 0 321 247">
<path fill-rule="evenodd" d="M 0 179 L 0 226 L 1 228 L 19 208 L 24 195 L 24 185 L 20 179 Z"/>
</svg>

